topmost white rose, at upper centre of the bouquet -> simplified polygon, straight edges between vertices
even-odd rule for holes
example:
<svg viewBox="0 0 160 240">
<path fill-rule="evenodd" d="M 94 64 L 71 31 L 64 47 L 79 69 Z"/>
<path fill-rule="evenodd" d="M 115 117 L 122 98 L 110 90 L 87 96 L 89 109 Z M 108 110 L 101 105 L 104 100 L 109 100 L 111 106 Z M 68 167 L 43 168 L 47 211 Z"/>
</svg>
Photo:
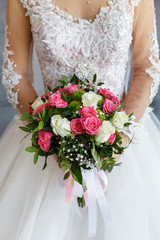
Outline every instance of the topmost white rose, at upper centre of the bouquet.
<svg viewBox="0 0 160 240">
<path fill-rule="evenodd" d="M 97 108 L 97 103 L 102 97 L 92 91 L 82 95 L 82 103 L 84 107 L 94 107 Z"/>
</svg>

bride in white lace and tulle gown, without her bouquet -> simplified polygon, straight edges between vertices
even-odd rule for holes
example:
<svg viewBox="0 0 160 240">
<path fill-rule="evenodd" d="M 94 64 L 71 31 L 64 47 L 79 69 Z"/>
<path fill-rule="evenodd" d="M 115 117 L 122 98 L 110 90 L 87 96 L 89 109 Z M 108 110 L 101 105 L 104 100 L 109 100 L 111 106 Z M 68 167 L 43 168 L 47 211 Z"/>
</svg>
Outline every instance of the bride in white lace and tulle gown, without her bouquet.
<svg viewBox="0 0 160 240">
<path fill-rule="evenodd" d="M 153 0 L 8 0 L 3 84 L 19 114 L 38 96 L 32 85 L 35 46 L 44 88 L 62 74 L 98 80 L 125 99 L 135 123 L 124 133 L 133 143 L 122 166 L 107 174 L 106 197 L 114 224 L 105 226 L 100 211 L 94 240 L 160 239 L 160 132 L 149 108 L 160 82 L 160 61 Z M 125 92 L 131 52 L 132 81 Z M 39 84 L 39 82 L 38 82 Z M 17 118 L 18 119 L 18 118 Z M 60 184 L 56 156 L 33 166 L 25 152 L 30 140 L 13 120 L 0 141 L 0 239 L 86 240 L 87 209 L 70 215 Z M 117 158 L 119 161 L 119 158 Z"/>
</svg>

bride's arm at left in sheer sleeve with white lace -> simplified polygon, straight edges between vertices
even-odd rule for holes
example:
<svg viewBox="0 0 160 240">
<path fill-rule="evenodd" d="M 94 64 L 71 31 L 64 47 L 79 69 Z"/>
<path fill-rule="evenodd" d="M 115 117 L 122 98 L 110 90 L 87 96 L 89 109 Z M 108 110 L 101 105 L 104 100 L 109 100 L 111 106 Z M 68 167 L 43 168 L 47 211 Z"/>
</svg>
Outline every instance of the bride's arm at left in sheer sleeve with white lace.
<svg viewBox="0 0 160 240">
<path fill-rule="evenodd" d="M 32 34 L 29 18 L 19 0 L 8 0 L 2 83 L 9 102 L 19 112 L 37 95 L 32 87 Z"/>
</svg>

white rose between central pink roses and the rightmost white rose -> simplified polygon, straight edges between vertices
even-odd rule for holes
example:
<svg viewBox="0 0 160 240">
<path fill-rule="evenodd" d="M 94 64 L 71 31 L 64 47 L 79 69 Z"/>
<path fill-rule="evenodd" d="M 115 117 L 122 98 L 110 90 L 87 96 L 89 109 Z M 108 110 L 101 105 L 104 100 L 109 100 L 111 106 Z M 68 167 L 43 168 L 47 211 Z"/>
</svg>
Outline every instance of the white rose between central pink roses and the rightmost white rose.
<svg viewBox="0 0 160 240">
<path fill-rule="evenodd" d="M 102 126 L 100 126 L 97 135 L 95 135 L 95 140 L 99 143 L 104 143 L 113 133 L 115 133 L 115 127 L 113 127 L 110 121 L 105 120 Z"/>
</svg>

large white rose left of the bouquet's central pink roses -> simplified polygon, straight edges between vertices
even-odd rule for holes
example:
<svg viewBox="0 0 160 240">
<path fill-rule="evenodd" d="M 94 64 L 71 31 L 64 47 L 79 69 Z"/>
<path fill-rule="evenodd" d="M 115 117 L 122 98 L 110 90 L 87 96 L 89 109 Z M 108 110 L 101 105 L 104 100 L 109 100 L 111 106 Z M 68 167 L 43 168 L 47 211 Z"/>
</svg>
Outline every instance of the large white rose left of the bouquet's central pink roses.
<svg viewBox="0 0 160 240">
<path fill-rule="evenodd" d="M 70 134 L 70 121 L 67 118 L 62 118 L 61 115 L 54 115 L 51 118 L 51 127 L 53 132 L 62 138 Z"/>
</svg>

